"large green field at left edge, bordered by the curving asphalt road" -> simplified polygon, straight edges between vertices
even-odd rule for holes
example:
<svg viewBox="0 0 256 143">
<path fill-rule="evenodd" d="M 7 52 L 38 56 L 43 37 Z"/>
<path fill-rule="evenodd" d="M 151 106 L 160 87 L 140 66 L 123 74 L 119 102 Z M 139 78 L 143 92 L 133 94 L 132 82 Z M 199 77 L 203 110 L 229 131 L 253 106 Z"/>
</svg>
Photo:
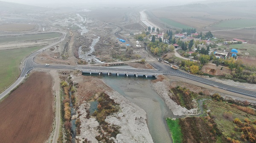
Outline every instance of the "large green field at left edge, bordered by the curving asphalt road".
<svg viewBox="0 0 256 143">
<path fill-rule="evenodd" d="M 19 65 L 22 59 L 40 48 L 43 48 L 43 46 L 0 50 L 0 93 L 11 86 L 20 75 Z"/>
</svg>

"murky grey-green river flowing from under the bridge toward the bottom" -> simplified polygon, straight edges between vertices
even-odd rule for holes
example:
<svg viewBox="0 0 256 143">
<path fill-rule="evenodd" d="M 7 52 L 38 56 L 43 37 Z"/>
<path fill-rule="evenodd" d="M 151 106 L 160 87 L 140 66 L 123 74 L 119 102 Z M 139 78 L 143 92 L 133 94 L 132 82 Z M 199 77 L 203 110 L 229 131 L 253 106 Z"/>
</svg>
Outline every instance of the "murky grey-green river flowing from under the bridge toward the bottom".
<svg viewBox="0 0 256 143">
<path fill-rule="evenodd" d="M 88 73 L 83 73 L 90 76 Z M 103 81 L 113 90 L 124 96 L 126 99 L 145 110 L 147 113 L 148 129 L 154 143 L 172 143 L 172 137 L 166 124 L 166 118 L 176 118 L 172 111 L 166 106 L 163 99 L 156 93 L 151 85 L 154 77 L 128 76 L 124 74 L 92 74 L 100 76 Z"/>
</svg>

